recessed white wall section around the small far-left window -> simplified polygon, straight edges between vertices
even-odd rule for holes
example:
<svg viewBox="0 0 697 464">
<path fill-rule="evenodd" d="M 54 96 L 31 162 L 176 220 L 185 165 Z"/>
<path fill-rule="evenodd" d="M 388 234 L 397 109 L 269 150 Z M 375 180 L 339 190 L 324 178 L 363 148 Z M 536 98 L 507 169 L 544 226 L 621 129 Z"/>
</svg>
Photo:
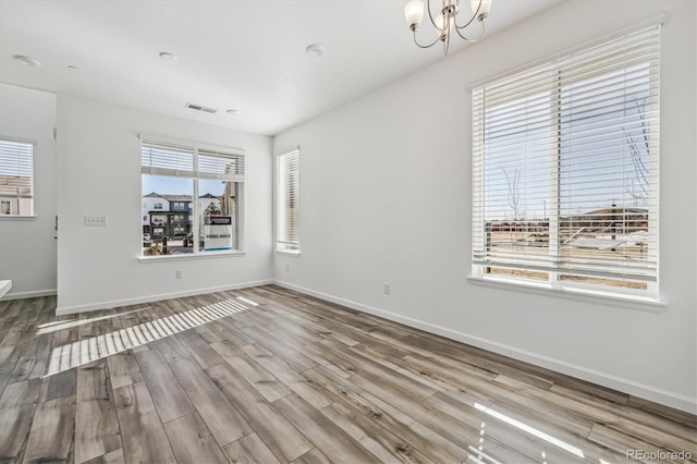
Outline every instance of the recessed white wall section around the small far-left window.
<svg viewBox="0 0 697 464">
<path fill-rule="evenodd" d="M 56 293 L 54 126 L 56 95 L 0 84 L 0 136 L 36 142 L 36 218 L 0 218 L 0 280 L 12 280 L 5 298 Z"/>
</svg>

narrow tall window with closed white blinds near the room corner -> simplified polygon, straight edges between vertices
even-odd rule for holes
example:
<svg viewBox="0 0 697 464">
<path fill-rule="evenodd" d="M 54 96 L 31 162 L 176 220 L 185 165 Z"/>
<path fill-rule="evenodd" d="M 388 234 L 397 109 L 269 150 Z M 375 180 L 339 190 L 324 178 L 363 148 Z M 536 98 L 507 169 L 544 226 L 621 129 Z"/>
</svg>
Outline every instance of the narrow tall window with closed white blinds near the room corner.
<svg viewBox="0 0 697 464">
<path fill-rule="evenodd" d="M 299 150 L 276 158 L 276 248 L 301 249 Z"/>
</svg>

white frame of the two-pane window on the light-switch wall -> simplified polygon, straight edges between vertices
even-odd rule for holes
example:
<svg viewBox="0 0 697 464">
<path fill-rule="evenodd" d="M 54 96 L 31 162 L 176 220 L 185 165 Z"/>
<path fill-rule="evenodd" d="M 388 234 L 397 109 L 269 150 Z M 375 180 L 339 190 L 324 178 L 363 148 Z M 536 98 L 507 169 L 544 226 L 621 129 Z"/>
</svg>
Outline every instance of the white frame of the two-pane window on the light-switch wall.
<svg viewBox="0 0 697 464">
<path fill-rule="evenodd" d="M 196 259 L 196 258 L 206 258 L 206 257 L 215 257 L 215 256 L 244 256 L 246 255 L 246 241 L 245 241 L 245 188 L 244 188 L 244 183 L 245 183 L 245 174 L 244 174 L 244 159 L 245 159 L 245 150 L 241 149 L 241 148 L 234 148 L 234 147 L 222 147 L 222 146 L 217 146 L 217 145 L 211 145 L 211 144 L 204 144 L 204 143 L 198 143 L 198 142 L 192 142 L 192 141 L 182 141 L 182 139 L 175 139 L 175 138 L 170 138 L 170 137 L 162 137 L 159 135 L 151 135 L 151 134 L 138 134 L 138 138 L 140 139 L 140 150 L 139 150 L 139 156 L 143 157 L 143 147 L 147 144 L 162 144 L 166 146 L 172 146 L 172 147 L 182 147 L 188 150 L 192 150 L 192 152 L 194 154 L 194 167 L 196 168 L 196 170 L 192 171 L 192 172 L 184 172 L 184 173 L 180 173 L 179 171 L 174 171 L 172 173 L 166 173 L 166 172 L 158 172 L 159 168 L 146 168 L 145 166 L 143 166 L 142 162 L 142 169 L 140 169 L 140 195 L 143 195 L 143 176 L 144 175 L 152 175 L 152 176 L 171 176 L 171 178 L 179 178 L 179 179 L 187 179 L 192 181 L 192 202 L 189 203 L 189 210 L 191 213 L 188 215 L 192 219 L 192 230 L 193 232 L 193 251 L 192 253 L 185 253 L 185 254 L 175 254 L 175 255 L 143 255 L 143 231 L 140 229 L 140 254 L 138 256 L 138 260 L 140 262 L 152 262 L 156 260 L 178 260 L 178 259 Z M 199 152 L 203 152 L 201 156 L 208 156 L 210 157 L 211 154 L 220 154 L 220 155 L 228 155 L 231 157 L 234 157 L 235 162 L 241 164 L 241 173 L 233 173 L 232 175 L 228 176 L 228 175 L 218 175 L 218 174 L 211 174 L 208 173 L 208 171 L 205 171 L 205 167 L 203 171 L 198 171 L 198 159 L 199 159 Z M 232 158 L 231 158 L 232 159 Z M 146 172 L 146 171 L 150 171 L 150 172 Z M 236 186 L 234 186 L 233 188 L 236 191 L 236 195 L 235 195 L 235 220 L 236 220 L 236 247 L 232 248 L 232 249 L 198 249 L 200 242 L 198 239 L 198 233 L 196 232 L 198 230 L 198 225 L 200 222 L 200 213 L 201 211 L 198 210 L 198 184 L 200 181 L 210 181 L 210 180 L 220 180 L 221 182 L 229 182 L 231 184 L 237 184 Z M 172 210 L 170 208 L 169 211 L 171 211 L 172 213 L 185 213 L 186 212 L 186 203 L 184 203 L 184 209 L 181 210 Z M 164 210 L 162 208 L 162 212 L 167 212 L 167 210 Z M 152 234 L 152 232 L 151 232 Z"/>
</svg>

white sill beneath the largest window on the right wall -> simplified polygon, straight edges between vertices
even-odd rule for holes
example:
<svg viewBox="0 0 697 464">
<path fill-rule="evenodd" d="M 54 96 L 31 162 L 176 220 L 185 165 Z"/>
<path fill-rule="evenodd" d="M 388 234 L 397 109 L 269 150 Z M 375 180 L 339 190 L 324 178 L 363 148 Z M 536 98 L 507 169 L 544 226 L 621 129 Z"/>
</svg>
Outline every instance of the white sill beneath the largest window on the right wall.
<svg viewBox="0 0 697 464">
<path fill-rule="evenodd" d="M 467 280 L 476 285 L 491 286 L 506 290 L 521 290 L 524 292 L 558 295 L 579 301 L 595 302 L 612 301 L 623 304 L 628 308 L 646 310 L 649 313 L 663 313 L 668 306 L 667 302 L 640 295 L 629 295 L 622 293 L 603 292 L 600 290 L 578 289 L 573 286 L 554 288 L 546 282 L 523 282 L 512 281 L 510 279 L 498 279 L 490 277 L 468 276 Z"/>
</svg>

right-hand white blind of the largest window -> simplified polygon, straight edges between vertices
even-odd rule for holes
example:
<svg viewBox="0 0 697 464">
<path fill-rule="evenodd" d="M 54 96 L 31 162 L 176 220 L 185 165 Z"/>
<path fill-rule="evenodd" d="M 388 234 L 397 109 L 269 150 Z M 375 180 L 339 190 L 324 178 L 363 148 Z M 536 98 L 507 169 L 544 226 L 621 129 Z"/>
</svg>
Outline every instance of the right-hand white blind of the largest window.
<svg viewBox="0 0 697 464">
<path fill-rule="evenodd" d="M 659 27 L 570 57 L 560 76 L 560 269 L 656 281 Z"/>
</svg>

